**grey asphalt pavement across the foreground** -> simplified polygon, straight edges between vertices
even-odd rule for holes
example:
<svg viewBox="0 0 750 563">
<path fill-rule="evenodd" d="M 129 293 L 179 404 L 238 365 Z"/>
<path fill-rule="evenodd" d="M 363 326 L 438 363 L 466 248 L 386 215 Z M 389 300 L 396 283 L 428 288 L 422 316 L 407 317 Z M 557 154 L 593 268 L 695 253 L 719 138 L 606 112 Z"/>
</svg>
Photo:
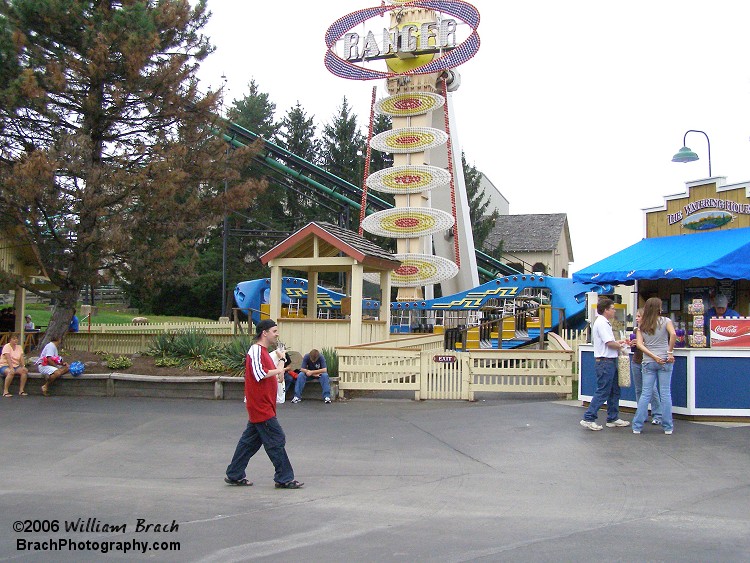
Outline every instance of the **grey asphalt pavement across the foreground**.
<svg viewBox="0 0 750 563">
<path fill-rule="evenodd" d="M 277 490 L 262 450 L 254 486 L 223 482 L 241 401 L 2 399 L 0 560 L 750 560 L 750 425 L 635 436 L 586 430 L 583 412 L 544 397 L 287 403 L 305 486 Z"/>
</svg>

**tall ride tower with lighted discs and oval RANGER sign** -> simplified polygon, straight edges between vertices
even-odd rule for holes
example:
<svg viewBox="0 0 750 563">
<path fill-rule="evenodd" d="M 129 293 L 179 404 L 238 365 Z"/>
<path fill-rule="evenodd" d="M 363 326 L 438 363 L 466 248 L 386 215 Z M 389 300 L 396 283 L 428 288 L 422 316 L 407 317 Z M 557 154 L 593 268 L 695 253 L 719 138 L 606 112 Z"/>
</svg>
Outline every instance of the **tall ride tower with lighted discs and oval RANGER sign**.
<svg viewBox="0 0 750 563">
<path fill-rule="evenodd" d="M 369 29 L 371 21 L 380 30 Z M 371 234 L 397 239 L 402 265 L 392 282 L 399 301 L 429 299 L 436 283 L 443 295 L 479 284 L 451 103 L 460 83 L 453 69 L 477 52 L 478 25 L 476 8 L 460 0 L 391 0 L 340 18 L 326 33 L 333 74 L 386 81 L 389 96 L 373 111 L 389 115 L 393 126 L 370 133 L 363 189 L 364 197 L 368 189 L 394 194 L 396 206 L 365 218 L 363 201 L 360 221 Z M 365 66 L 383 61 L 384 71 Z M 370 149 L 392 153 L 393 166 L 369 174 Z"/>
</svg>

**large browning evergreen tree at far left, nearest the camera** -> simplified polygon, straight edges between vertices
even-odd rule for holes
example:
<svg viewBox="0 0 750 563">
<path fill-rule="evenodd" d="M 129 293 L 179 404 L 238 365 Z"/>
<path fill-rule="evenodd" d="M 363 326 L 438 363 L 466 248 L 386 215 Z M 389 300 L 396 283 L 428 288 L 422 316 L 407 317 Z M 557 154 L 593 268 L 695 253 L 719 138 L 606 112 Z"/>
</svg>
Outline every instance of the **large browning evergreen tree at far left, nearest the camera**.
<svg viewBox="0 0 750 563">
<path fill-rule="evenodd" d="M 213 47 L 192 4 L 0 2 L 0 221 L 58 288 L 45 341 L 102 271 L 144 287 L 189 271 L 208 226 L 263 189 L 197 89 Z"/>
</svg>

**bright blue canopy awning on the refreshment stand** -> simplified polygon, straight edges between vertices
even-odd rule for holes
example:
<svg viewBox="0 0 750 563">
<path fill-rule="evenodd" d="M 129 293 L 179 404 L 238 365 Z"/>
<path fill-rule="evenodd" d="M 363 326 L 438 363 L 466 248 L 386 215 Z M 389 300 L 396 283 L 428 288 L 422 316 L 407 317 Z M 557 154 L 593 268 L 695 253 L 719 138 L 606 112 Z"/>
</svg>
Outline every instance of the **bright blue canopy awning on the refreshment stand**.
<svg viewBox="0 0 750 563">
<path fill-rule="evenodd" d="M 573 274 L 583 283 L 636 280 L 750 279 L 750 227 L 647 238 Z"/>
</svg>

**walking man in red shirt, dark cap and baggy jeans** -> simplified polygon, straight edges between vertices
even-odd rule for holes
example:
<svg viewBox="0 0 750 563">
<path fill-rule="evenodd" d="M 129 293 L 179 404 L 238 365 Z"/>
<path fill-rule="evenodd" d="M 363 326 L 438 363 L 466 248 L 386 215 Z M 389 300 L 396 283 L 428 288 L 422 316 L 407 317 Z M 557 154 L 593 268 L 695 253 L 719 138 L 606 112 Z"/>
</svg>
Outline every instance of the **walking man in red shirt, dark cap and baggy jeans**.
<svg viewBox="0 0 750 563">
<path fill-rule="evenodd" d="M 260 321 L 255 328 L 255 344 L 245 358 L 245 402 L 250 420 L 237 443 L 224 481 L 230 485 L 252 485 L 245 478 L 245 469 L 263 446 L 276 468 L 273 477 L 276 488 L 299 489 L 304 483 L 294 479 L 294 469 L 286 455 L 286 436 L 276 419 L 276 391 L 284 377 L 283 356 L 280 361 L 272 359 L 268 347 L 276 344 L 279 329 L 270 319 Z"/>
</svg>

